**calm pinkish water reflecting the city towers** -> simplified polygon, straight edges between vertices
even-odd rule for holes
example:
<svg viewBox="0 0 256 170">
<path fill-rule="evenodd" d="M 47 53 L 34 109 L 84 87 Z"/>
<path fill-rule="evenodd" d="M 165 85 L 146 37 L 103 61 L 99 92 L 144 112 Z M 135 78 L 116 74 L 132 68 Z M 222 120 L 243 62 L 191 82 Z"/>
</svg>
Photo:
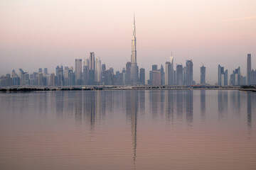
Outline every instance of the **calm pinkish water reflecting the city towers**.
<svg viewBox="0 0 256 170">
<path fill-rule="evenodd" d="M 256 93 L 0 94 L 0 169 L 256 169 Z"/>
</svg>

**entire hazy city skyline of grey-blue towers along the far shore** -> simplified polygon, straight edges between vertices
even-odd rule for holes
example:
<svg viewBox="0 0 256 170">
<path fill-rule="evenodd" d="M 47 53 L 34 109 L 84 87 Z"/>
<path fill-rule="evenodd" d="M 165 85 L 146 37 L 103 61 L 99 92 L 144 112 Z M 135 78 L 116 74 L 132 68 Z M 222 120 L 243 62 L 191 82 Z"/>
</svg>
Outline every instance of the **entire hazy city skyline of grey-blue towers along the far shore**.
<svg viewBox="0 0 256 170">
<path fill-rule="evenodd" d="M 240 67 L 230 74 L 228 84 L 228 70 L 218 65 L 218 85 L 255 85 L 256 69 L 251 69 L 251 55 L 247 55 L 247 77 L 243 77 L 240 73 Z M 171 55 L 170 61 L 161 65 L 160 69 L 157 65 L 152 65 L 149 71 L 148 85 L 151 86 L 191 86 L 196 85 L 193 81 L 193 62 L 186 60 L 186 64 L 176 64 L 174 70 L 174 57 Z M 200 84 L 206 85 L 206 67 L 200 68 Z M 19 75 L 15 70 L 11 74 L 0 77 L 0 86 L 139 86 L 145 85 L 145 69 L 137 65 L 137 49 L 136 49 L 136 30 L 135 18 L 132 37 L 132 55 L 131 62 L 127 62 L 126 68 L 122 71 L 114 73 L 114 69 L 107 69 L 102 64 L 100 57 L 95 58 L 95 53 L 90 52 L 90 57 L 84 59 L 75 59 L 75 70 L 73 67 L 57 66 L 55 73 L 48 74 L 48 69 L 38 69 L 38 72 L 28 74 L 19 69 Z"/>
</svg>

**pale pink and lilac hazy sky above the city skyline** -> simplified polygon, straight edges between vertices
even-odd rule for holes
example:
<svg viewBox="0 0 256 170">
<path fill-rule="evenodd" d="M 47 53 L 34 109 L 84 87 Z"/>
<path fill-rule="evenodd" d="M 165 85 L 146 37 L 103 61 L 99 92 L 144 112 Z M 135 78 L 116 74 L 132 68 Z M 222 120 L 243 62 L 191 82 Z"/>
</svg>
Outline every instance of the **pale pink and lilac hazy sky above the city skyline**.
<svg viewBox="0 0 256 170">
<path fill-rule="evenodd" d="M 137 63 L 175 64 L 193 60 L 193 79 L 218 81 L 218 64 L 230 75 L 247 53 L 256 69 L 256 0 L 0 0 L 0 75 L 37 72 L 57 65 L 75 66 L 90 52 L 107 69 L 122 70 L 130 61 L 133 15 L 136 18 Z"/>
</svg>

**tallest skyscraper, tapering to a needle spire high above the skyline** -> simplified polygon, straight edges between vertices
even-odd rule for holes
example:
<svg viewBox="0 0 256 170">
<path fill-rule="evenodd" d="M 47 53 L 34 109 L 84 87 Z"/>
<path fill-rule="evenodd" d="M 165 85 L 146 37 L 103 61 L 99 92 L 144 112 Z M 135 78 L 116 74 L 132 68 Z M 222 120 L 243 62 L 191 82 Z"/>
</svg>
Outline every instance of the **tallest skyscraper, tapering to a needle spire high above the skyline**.
<svg viewBox="0 0 256 170">
<path fill-rule="evenodd" d="M 136 50 L 136 30 L 135 30 L 135 16 L 134 16 L 134 30 L 132 36 L 132 55 L 131 55 L 131 84 L 138 83 L 139 67 L 137 66 L 137 50 Z"/>
</svg>

